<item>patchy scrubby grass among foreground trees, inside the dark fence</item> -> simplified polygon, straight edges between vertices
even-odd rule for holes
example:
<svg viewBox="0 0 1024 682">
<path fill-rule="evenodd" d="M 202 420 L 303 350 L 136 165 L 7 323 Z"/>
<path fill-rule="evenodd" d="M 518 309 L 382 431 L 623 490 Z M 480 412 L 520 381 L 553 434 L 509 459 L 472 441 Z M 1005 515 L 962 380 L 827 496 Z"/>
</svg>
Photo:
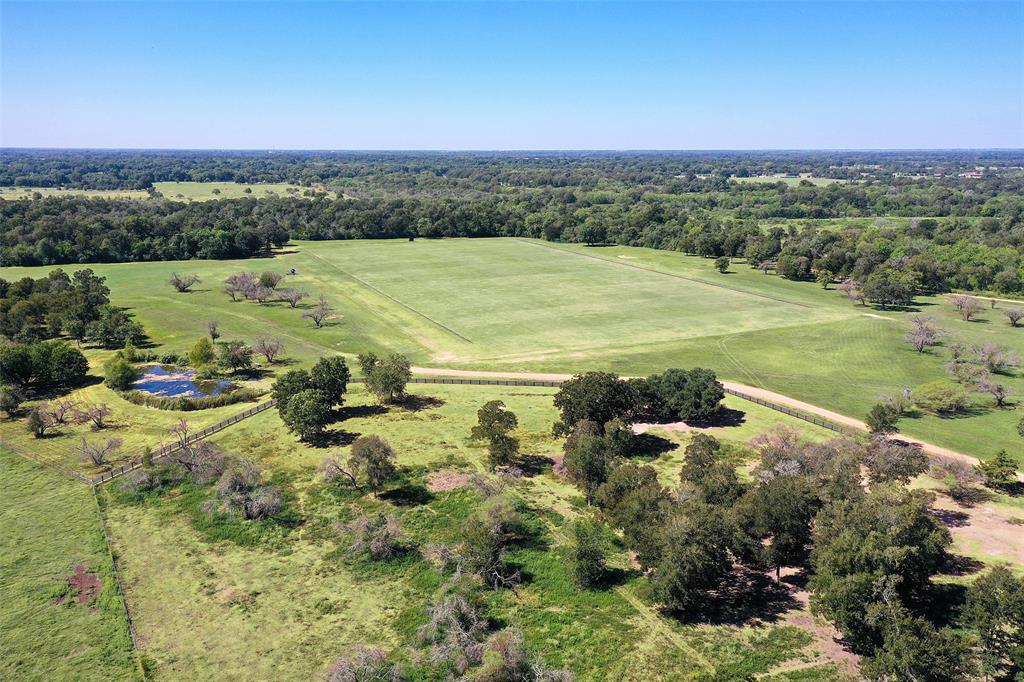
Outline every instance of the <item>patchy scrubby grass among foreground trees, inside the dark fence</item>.
<svg viewBox="0 0 1024 682">
<path fill-rule="evenodd" d="M 371 400 L 355 386 L 346 399 L 348 418 L 332 427 L 349 437 L 374 433 L 387 438 L 398 453 L 398 464 L 410 472 L 408 489 L 417 492 L 408 495 L 408 501 L 353 497 L 319 482 L 316 465 L 341 449 L 296 443 L 272 411 L 214 440 L 274 472 L 304 519 L 290 531 L 253 542 L 218 540 L 196 523 L 187 495 L 172 492 L 139 503 L 123 499 L 116 486 L 103 488 L 152 679 L 307 680 L 359 643 L 382 646 L 410 660 L 410 647 L 416 649 L 415 628 L 440 579 L 418 558 L 383 566 L 345 559 L 331 530 L 333 523 L 359 509 L 390 511 L 400 515 L 417 542 L 458 541 L 462 519 L 479 504 L 476 494 L 431 494 L 422 484 L 432 470 L 482 468 L 483 449 L 466 436 L 476 409 L 488 399 L 505 400 L 519 417 L 516 435 L 525 454 L 551 455 L 560 449 L 550 435 L 556 417 L 551 389 L 415 389 L 417 395 L 432 398 L 432 407 L 374 414 L 364 408 Z M 748 409 L 739 400 L 728 404 Z M 745 441 L 787 420 L 759 409 L 744 417 L 741 426 L 716 429 L 716 435 Z M 787 423 L 809 437 L 826 435 L 802 422 Z M 672 434 L 676 443 L 687 437 Z M 675 482 L 679 457 L 680 452 L 672 450 L 650 461 Z M 784 619 L 683 625 L 649 606 L 644 581 L 633 570 L 613 589 L 577 591 L 566 570 L 563 527 L 584 509 L 579 492 L 550 471 L 520 479 L 511 489 L 539 524 L 542 546 L 512 553 L 510 559 L 530 579 L 515 593 L 495 594 L 488 613 L 499 622 L 518 623 L 549 664 L 571 668 L 581 680 L 741 679 L 786 664 L 806 667 L 800 679 L 838 679 L 817 640 Z M 624 569 L 629 565 L 621 550 L 614 562 Z"/>
</svg>

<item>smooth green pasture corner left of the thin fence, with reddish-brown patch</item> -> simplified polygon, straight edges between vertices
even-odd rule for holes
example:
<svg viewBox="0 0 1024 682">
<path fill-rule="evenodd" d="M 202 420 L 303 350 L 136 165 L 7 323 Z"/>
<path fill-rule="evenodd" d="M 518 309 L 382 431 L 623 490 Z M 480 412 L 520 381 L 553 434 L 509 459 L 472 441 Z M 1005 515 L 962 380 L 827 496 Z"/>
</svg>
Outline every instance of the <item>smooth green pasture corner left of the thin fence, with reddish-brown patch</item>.
<svg viewBox="0 0 1024 682">
<path fill-rule="evenodd" d="M 0 446 L 0 679 L 138 679 L 89 487 Z M 102 581 L 85 604 L 78 564 Z"/>
</svg>

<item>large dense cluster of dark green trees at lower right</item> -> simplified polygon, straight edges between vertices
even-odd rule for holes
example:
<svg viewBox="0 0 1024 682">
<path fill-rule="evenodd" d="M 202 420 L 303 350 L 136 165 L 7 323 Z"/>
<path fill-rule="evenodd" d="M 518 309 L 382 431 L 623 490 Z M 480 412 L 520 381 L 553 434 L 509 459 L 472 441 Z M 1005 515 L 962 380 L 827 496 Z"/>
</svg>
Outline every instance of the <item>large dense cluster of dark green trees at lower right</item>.
<svg viewBox="0 0 1024 682">
<path fill-rule="evenodd" d="M 929 465 L 918 447 L 885 436 L 810 443 L 779 429 L 754 441 L 760 460 L 745 482 L 739 453 L 696 434 L 672 488 L 635 459 L 629 382 L 573 381 L 556 397 L 565 473 L 622 534 L 666 609 L 708 616 L 729 608 L 742 570 L 778 580 L 798 567 L 810 574 L 812 609 L 864 656 L 872 680 L 1021 672 L 1024 581 L 1010 571 L 993 568 L 968 590 L 967 632 L 943 625 L 954 597 L 932 578 L 949 565 L 951 537 L 931 494 L 906 487 Z M 572 530 L 579 583 L 601 585 L 605 534 L 586 520 Z"/>
</svg>

